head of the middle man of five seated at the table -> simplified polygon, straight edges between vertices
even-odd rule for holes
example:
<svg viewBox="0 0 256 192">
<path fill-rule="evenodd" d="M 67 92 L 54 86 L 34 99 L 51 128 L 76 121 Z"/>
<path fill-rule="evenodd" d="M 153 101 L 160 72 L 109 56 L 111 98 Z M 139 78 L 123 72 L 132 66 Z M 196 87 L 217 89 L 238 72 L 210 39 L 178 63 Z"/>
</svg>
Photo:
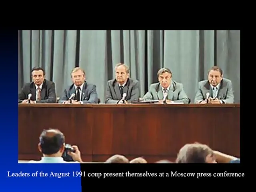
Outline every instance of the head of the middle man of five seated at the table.
<svg viewBox="0 0 256 192">
<path fill-rule="evenodd" d="M 121 85 L 128 80 L 130 75 L 129 67 L 123 63 L 119 63 L 116 65 L 115 72 L 116 72 L 116 81 Z"/>
</svg>

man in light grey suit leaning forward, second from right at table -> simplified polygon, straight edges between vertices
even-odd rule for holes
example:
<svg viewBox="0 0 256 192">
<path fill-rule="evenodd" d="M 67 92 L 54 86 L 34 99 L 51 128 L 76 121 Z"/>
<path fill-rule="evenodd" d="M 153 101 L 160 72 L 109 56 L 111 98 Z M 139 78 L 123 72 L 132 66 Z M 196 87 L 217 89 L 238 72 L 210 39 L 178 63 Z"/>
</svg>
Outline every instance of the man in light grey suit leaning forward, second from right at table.
<svg viewBox="0 0 256 192">
<path fill-rule="evenodd" d="M 150 85 L 149 91 L 143 96 L 143 100 L 159 100 L 162 103 L 164 94 L 166 94 L 166 103 L 183 102 L 188 104 L 190 102 L 183 84 L 172 80 L 170 69 L 161 68 L 157 76 L 159 82 Z"/>
</svg>

